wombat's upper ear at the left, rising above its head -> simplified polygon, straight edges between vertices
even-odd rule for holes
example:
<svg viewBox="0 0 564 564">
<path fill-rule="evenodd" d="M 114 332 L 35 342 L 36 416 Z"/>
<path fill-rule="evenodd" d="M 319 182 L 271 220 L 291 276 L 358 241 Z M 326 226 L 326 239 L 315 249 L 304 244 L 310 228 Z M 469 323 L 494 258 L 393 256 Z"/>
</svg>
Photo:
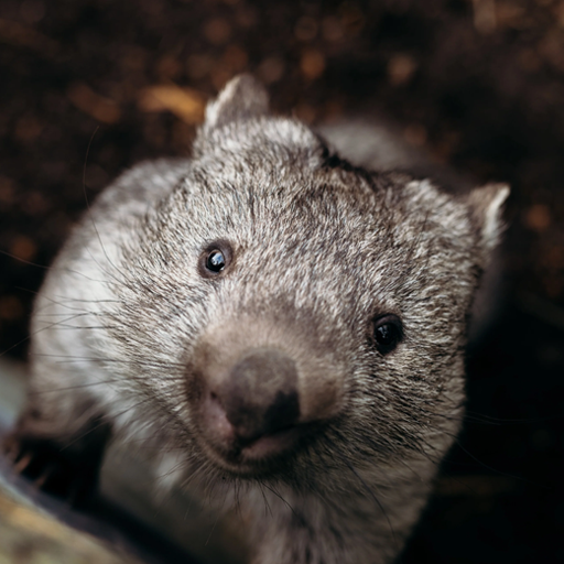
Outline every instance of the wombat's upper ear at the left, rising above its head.
<svg viewBox="0 0 564 564">
<path fill-rule="evenodd" d="M 264 87 L 250 75 L 239 75 L 229 80 L 219 96 L 207 105 L 204 130 L 264 116 L 268 111 L 269 97 Z"/>
</svg>

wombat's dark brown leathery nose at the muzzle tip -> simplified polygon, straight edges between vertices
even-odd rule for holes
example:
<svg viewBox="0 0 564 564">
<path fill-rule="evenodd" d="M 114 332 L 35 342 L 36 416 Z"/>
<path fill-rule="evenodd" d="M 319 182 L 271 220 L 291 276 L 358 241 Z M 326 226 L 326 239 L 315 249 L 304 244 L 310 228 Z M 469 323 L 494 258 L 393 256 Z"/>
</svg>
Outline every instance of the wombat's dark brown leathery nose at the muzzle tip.
<svg viewBox="0 0 564 564">
<path fill-rule="evenodd" d="M 212 395 L 242 443 L 288 429 L 300 416 L 295 364 L 275 349 L 243 356 Z"/>
</svg>

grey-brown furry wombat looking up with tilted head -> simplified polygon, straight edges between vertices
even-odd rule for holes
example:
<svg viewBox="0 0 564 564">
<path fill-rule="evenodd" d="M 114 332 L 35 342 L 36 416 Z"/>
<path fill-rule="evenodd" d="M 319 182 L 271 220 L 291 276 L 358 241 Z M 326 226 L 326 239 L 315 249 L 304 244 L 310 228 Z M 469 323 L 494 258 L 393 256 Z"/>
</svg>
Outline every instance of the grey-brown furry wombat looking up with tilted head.
<svg viewBox="0 0 564 564">
<path fill-rule="evenodd" d="M 459 429 L 509 189 L 352 166 L 268 106 L 232 79 L 192 159 L 100 195 L 37 297 L 7 445 L 68 496 L 110 438 L 152 446 L 156 474 L 239 509 L 254 564 L 389 563 Z"/>
</svg>

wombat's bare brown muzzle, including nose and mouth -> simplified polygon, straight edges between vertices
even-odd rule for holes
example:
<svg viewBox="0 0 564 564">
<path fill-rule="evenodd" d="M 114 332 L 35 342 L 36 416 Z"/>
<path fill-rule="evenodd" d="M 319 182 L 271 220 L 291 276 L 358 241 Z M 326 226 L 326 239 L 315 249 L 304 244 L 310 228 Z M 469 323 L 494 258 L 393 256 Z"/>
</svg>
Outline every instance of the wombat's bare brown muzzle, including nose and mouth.
<svg viewBox="0 0 564 564">
<path fill-rule="evenodd" d="M 205 449 L 252 471 L 305 444 L 339 411 L 343 372 L 334 359 L 284 323 L 245 317 L 209 327 L 191 351 L 186 382 Z"/>
</svg>

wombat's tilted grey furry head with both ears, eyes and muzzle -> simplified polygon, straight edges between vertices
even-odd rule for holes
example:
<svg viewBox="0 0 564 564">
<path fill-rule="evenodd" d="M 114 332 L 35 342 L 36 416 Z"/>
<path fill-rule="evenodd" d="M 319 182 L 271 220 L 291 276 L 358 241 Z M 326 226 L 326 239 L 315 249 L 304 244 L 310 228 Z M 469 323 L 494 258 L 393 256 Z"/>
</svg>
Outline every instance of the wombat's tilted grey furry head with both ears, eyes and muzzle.
<svg viewBox="0 0 564 564">
<path fill-rule="evenodd" d="M 508 188 L 454 198 L 368 173 L 250 77 L 207 108 L 189 172 L 127 251 L 127 355 L 176 446 L 293 482 L 437 457 Z"/>
</svg>

